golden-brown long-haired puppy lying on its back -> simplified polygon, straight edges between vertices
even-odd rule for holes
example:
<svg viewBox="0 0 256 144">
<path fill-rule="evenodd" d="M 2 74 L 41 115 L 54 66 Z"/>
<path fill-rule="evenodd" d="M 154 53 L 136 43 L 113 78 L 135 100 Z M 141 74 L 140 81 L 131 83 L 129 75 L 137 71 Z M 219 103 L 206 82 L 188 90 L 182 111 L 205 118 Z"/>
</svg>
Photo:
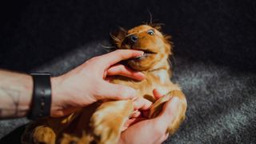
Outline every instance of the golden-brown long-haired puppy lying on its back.
<svg viewBox="0 0 256 144">
<path fill-rule="evenodd" d="M 178 85 L 170 81 L 168 62 L 172 54 L 170 37 L 162 34 L 160 26 L 142 25 L 128 31 L 112 34 L 117 49 L 142 50 L 141 57 L 126 60 L 126 66 L 142 71 L 146 78 L 141 82 L 116 76 L 111 82 L 131 86 L 138 90 L 138 97 L 153 102 L 150 118 L 156 117 L 170 98 L 177 97 L 182 103 L 174 120 L 166 127 L 166 133 L 174 134 L 185 118 L 186 98 Z M 154 99 L 153 90 L 165 94 Z M 118 142 L 122 126 L 133 113 L 131 100 L 95 102 L 65 118 L 42 118 L 30 124 L 22 136 L 23 143 L 110 143 Z"/>
</svg>

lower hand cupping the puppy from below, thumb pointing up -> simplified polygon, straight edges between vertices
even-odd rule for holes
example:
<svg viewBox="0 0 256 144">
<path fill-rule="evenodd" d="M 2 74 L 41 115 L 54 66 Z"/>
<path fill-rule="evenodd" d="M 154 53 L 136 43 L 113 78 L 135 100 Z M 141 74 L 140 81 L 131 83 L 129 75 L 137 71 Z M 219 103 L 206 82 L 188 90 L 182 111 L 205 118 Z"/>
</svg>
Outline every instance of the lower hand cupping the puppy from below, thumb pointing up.
<svg viewBox="0 0 256 144">
<path fill-rule="evenodd" d="M 162 94 L 154 90 L 154 97 L 160 98 Z M 121 134 L 119 143 L 162 143 L 168 138 L 166 130 L 170 122 L 174 120 L 174 113 L 179 105 L 178 98 L 171 98 L 162 108 L 162 112 L 156 118 L 146 118 L 146 114 L 137 112 L 126 122 L 126 130 Z M 147 107 L 150 108 L 150 107 Z"/>
</svg>

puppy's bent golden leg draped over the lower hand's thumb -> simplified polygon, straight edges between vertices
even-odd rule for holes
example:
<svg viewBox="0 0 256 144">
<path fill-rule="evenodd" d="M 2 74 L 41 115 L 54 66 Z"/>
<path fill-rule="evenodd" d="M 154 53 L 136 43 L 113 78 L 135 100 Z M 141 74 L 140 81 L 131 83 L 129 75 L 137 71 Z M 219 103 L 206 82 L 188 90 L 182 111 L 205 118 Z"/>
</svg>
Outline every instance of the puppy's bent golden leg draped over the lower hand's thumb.
<svg viewBox="0 0 256 144">
<path fill-rule="evenodd" d="M 171 98 L 177 97 L 179 98 L 181 105 L 178 106 L 177 111 L 174 114 L 174 120 L 170 122 L 170 126 L 166 130 L 166 133 L 174 134 L 176 130 L 178 130 L 178 127 L 182 123 L 182 121 L 185 119 L 185 113 L 186 113 L 186 97 L 182 93 L 181 90 L 172 90 L 170 93 L 162 96 L 162 98 L 159 98 L 157 102 L 154 102 L 153 106 L 150 109 L 150 118 L 155 118 L 160 114 L 162 111 L 162 106 L 169 101 Z"/>
</svg>

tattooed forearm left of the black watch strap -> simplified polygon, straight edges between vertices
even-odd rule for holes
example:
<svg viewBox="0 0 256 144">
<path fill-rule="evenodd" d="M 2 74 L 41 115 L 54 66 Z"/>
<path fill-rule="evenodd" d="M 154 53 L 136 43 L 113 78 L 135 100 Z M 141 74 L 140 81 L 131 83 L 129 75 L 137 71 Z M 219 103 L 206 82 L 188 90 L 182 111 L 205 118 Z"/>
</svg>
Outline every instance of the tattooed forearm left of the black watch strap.
<svg viewBox="0 0 256 144">
<path fill-rule="evenodd" d="M 30 75 L 0 70 L 0 118 L 20 118 L 30 110 L 33 81 Z"/>
</svg>

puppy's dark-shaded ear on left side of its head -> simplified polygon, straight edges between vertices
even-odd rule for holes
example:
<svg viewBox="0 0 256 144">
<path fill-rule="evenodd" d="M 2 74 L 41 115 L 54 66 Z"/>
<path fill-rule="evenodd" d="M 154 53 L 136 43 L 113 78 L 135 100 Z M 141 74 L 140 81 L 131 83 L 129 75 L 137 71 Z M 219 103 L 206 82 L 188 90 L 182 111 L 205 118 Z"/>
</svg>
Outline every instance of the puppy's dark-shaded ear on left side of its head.
<svg viewBox="0 0 256 144">
<path fill-rule="evenodd" d="M 112 42 L 115 46 L 118 46 L 118 48 L 121 47 L 122 40 L 126 38 L 127 30 L 125 30 L 122 27 L 119 27 L 119 30 L 116 30 L 112 33 L 110 33 L 110 37 L 112 38 Z"/>
</svg>

